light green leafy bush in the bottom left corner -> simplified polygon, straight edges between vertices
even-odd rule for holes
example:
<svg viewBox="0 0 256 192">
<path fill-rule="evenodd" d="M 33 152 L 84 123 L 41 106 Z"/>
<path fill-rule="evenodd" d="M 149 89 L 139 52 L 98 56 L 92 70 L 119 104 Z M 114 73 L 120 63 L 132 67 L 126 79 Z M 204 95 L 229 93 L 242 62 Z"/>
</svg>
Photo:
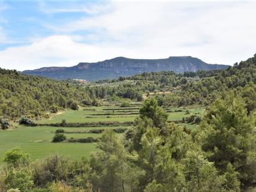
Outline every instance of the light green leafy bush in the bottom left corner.
<svg viewBox="0 0 256 192">
<path fill-rule="evenodd" d="M 32 173 L 27 168 L 22 168 L 18 171 L 11 169 L 4 183 L 7 189 L 30 190 L 33 186 Z"/>
</svg>

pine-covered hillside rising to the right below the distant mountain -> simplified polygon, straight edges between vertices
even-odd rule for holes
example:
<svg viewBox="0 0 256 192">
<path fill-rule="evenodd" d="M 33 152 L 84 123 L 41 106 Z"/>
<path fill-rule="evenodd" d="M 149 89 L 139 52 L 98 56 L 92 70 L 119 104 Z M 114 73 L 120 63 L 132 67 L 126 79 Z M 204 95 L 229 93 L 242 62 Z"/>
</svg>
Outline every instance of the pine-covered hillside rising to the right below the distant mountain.
<svg viewBox="0 0 256 192">
<path fill-rule="evenodd" d="M 161 98 L 166 106 L 208 106 L 220 94 L 236 90 L 249 104 L 250 110 L 256 106 L 256 54 L 239 64 L 225 70 L 185 72 L 171 71 L 142 73 L 117 80 L 101 80 L 95 83 L 95 93 L 105 92 L 109 96 L 142 99 L 142 94 L 165 93 Z M 250 98 L 250 99 L 249 99 Z M 250 100 L 250 102 L 249 102 Z"/>
</svg>

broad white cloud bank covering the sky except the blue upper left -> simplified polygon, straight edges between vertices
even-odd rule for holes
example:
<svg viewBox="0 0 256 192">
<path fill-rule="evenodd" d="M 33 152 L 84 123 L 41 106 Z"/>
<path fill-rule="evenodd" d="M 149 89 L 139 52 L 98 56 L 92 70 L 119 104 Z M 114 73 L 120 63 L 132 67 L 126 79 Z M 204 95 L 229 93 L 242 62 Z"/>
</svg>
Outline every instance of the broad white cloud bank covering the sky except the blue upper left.
<svg viewBox="0 0 256 192">
<path fill-rule="evenodd" d="M 256 52 L 256 2 L 131 1 L 109 6 L 102 14 L 51 27 L 61 35 L 0 51 L 0 66 L 25 70 L 118 56 L 175 55 L 232 65 Z M 77 31 L 85 35 L 73 35 Z"/>
</svg>

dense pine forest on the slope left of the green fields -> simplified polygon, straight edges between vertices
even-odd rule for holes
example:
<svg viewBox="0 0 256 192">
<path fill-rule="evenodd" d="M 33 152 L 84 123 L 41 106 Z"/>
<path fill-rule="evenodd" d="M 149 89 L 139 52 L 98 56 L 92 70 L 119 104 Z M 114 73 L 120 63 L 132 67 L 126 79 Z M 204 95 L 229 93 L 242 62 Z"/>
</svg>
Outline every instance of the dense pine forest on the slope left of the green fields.
<svg viewBox="0 0 256 192">
<path fill-rule="evenodd" d="M 74 107 L 83 99 L 89 100 L 86 89 L 75 81 L 21 75 L 1 68 L 0 89 L 0 117 L 9 119 L 42 116 L 47 111 Z"/>
</svg>

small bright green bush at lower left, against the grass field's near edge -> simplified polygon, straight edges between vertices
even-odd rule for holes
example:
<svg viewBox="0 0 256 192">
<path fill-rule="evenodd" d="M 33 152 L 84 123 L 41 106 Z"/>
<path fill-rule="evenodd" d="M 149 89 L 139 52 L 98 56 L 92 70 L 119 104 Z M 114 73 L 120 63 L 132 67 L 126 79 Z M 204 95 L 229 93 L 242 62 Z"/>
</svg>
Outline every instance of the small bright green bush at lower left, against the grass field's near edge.
<svg viewBox="0 0 256 192">
<path fill-rule="evenodd" d="M 28 165 L 29 154 L 22 152 L 19 147 L 8 150 L 4 155 L 4 162 L 10 167 L 19 167 L 20 165 Z"/>
</svg>

